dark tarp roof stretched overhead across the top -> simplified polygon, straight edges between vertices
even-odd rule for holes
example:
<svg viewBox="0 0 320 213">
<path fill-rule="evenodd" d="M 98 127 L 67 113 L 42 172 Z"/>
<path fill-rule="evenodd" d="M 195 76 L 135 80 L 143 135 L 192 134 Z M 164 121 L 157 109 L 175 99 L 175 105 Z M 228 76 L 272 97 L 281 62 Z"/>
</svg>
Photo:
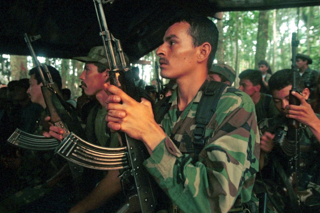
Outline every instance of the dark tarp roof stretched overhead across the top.
<svg viewBox="0 0 320 213">
<path fill-rule="evenodd" d="M 165 30 L 185 13 L 213 17 L 219 11 L 320 5 L 319 0 L 116 0 L 105 4 L 110 32 L 137 60 L 162 43 Z M 102 45 L 92 0 L 1 1 L 0 54 L 30 55 L 23 33 L 41 34 L 38 56 L 71 58 Z"/>
</svg>

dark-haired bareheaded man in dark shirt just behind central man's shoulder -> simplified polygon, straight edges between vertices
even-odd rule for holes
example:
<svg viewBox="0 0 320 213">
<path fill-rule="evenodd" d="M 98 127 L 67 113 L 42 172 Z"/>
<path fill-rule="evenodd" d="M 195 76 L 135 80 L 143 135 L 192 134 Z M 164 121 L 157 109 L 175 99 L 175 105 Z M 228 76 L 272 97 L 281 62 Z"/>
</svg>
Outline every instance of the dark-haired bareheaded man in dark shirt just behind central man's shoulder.
<svg viewBox="0 0 320 213">
<path fill-rule="evenodd" d="M 251 97 L 255 105 L 258 123 L 264 118 L 273 118 L 279 113 L 271 95 L 260 92 L 261 87 L 264 87 L 260 71 L 244 70 L 240 73 L 239 78 L 239 89 Z"/>
</svg>

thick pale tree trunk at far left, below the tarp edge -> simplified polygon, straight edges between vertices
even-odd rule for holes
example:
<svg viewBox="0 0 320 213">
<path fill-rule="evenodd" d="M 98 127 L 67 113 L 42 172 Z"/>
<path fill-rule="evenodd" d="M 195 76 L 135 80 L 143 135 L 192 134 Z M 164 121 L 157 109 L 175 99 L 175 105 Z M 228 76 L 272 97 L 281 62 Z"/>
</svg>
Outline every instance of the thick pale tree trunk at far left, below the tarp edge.
<svg viewBox="0 0 320 213">
<path fill-rule="evenodd" d="M 27 56 L 10 56 L 11 80 L 28 78 Z"/>
</svg>

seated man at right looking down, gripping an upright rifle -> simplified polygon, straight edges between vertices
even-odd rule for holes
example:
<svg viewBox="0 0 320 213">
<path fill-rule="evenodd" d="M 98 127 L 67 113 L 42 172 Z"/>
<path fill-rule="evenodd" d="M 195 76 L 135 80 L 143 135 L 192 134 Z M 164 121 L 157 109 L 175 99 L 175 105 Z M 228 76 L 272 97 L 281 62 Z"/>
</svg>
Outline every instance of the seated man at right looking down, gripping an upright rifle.
<svg viewBox="0 0 320 213">
<path fill-rule="evenodd" d="M 265 191 L 265 188 L 271 187 L 268 190 L 271 197 L 269 207 L 280 212 L 296 212 L 297 200 L 293 191 L 298 190 L 300 202 L 303 203 L 301 210 L 313 212 L 319 210 L 320 206 L 320 115 L 315 114 L 306 102 L 310 92 L 307 87 L 305 88 L 300 76 L 296 82 L 301 94 L 292 92 L 292 95 L 300 100 L 299 106 L 289 105 L 289 93 L 292 89 L 291 69 L 277 71 L 269 80 L 270 92 L 280 114 L 274 118 L 264 119 L 259 124 L 261 176 L 257 177 L 262 179 L 256 180 L 254 191 L 260 193 Z M 298 177 L 293 173 L 295 129 L 290 125 L 291 121 L 288 118 L 296 119 L 300 123 L 297 138 L 300 142 Z M 293 186 L 289 181 L 291 178 Z M 283 187 L 285 191 L 282 190 Z"/>
</svg>

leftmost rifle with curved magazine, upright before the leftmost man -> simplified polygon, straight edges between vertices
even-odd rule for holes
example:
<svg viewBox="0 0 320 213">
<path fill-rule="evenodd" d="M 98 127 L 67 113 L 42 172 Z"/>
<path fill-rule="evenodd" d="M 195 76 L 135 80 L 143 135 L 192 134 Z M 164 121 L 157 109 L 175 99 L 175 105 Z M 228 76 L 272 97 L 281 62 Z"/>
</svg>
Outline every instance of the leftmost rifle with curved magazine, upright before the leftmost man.
<svg viewBox="0 0 320 213">
<path fill-rule="evenodd" d="M 40 35 L 29 37 L 25 33 L 24 38 L 27 42 L 27 45 L 31 53 L 31 57 L 33 58 L 33 61 L 36 64 L 36 68 L 43 83 L 43 86 L 41 86 L 41 92 L 44 97 L 46 109 L 48 110 L 51 118 L 50 121 L 54 123 L 55 126 L 58 126 L 63 130 L 62 136 L 64 138 L 66 138 L 70 134 L 68 127 L 71 127 L 72 131 L 82 136 L 83 131 L 81 125 L 79 124 L 79 122 L 73 122 L 73 120 L 77 118 L 75 111 L 65 110 L 68 106 L 62 98 L 60 89 L 58 88 L 57 84 L 53 82 L 47 65 L 40 64 L 36 57 L 35 51 L 32 48 L 31 42 L 39 39 Z M 65 123 L 62 122 L 60 117 L 64 118 L 63 120 L 65 123 L 67 122 L 67 125 L 65 125 Z M 56 149 L 61 143 L 60 140 L 28 134 L 19 129 L 16 129 L 16 131 L 8 139 L 8 142 L 21 148 L 28 148 L 33 150 Z M 82 174 L 82 167 L 71 162 L 69 162 L 68 164 L 73 178 L 77 178 Z"/>
</svg>

